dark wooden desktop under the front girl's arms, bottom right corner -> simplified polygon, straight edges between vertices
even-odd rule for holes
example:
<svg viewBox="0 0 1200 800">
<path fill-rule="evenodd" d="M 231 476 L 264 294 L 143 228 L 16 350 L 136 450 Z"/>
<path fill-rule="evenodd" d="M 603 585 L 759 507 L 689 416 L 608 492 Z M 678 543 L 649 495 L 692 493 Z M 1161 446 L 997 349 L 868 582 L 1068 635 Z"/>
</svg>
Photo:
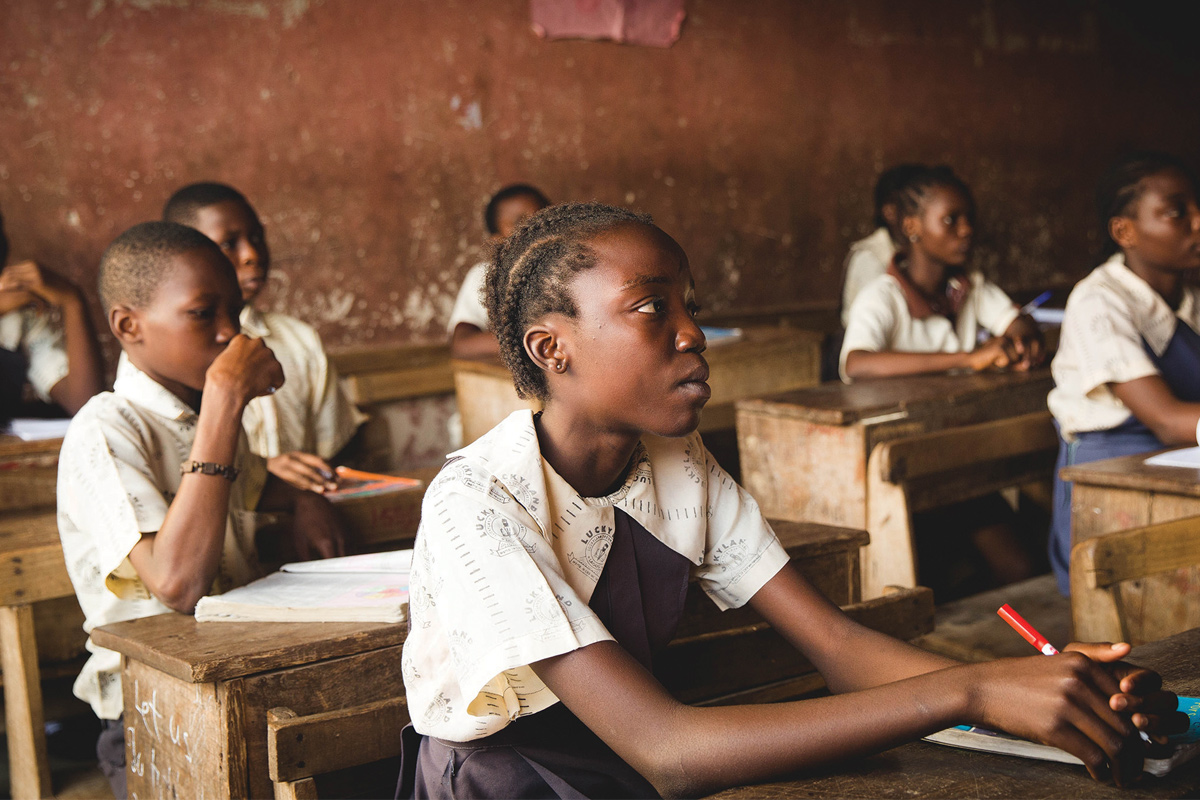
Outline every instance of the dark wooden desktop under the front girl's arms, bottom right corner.
<svg viewBox="0 0 1200 800">
<path fill-rule="evenodd" d="M 1168 688 L 1200 693 L 1200 630 L 1136 648 L 1129 661 L 1157 669 Z M 977 753 L 924 741 L 895 747 L 805 777 L 727 789 L 721 800 L 750 798 L 1195 798 L 1200 762 L 1164 778 L 1146 776 L 1134 788 L 1097 783 L 1082 766 Z"/>
</svg>

